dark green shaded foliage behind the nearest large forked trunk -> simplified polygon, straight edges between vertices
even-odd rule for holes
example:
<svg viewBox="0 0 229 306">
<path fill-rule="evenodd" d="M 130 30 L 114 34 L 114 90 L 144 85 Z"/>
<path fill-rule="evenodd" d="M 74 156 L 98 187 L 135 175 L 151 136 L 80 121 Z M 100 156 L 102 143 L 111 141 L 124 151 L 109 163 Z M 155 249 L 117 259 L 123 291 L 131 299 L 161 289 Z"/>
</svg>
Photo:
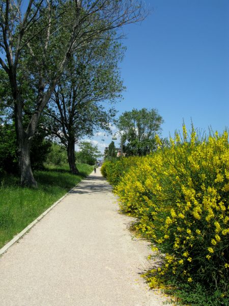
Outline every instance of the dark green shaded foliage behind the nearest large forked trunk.
<svg viewBox="0 0 229 306">
<path fill-rule="evenodd" d="M 20 80 L 23 90 L 23 100 L 26 100 L 27 107 L 24 109 L 24 122 L 26 124 L 27 117 L 31 113 L 31 101 L 34 98 L 34 93 L 27 90 L 26 80 Z M 29 88 L 28 88 L 29 89 Z M 44 116 L 41 117 L 41 122 L 44 123 Z M 41 169 L 46 160 L 50 141 L 46 137 L 41 124 L 38 125 L 31 145 L 31 164 L 32 169 Z M 15 131 L 15 120 L 13 115 L 13 99 L 11 96 L 10 84 L 7 74 L 4 70 L 0 70 L 0 170 L 5 170 L 10 173 L 18 174 L 18 152 L 17 139 Z"/>
</svg>

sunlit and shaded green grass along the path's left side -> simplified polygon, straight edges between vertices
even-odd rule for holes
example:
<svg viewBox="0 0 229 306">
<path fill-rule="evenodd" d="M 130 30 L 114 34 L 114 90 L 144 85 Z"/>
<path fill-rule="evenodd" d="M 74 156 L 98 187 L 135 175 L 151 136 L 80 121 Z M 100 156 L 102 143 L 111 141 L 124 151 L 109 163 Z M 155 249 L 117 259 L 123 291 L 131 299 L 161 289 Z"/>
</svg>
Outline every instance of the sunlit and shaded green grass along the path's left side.
<svg viewBox="0 0 229 306">
<path fill-rule="evenodd" d="M 79 175 L 69 172 L 66 166 L 46 166 L 35 171 L 37 189 L 22 188 L 19 178 L 5 175 L 0 182 L 0 248 L 40 216 L 85 176 L 93 166 L 78 164 Z"/>
</svg>

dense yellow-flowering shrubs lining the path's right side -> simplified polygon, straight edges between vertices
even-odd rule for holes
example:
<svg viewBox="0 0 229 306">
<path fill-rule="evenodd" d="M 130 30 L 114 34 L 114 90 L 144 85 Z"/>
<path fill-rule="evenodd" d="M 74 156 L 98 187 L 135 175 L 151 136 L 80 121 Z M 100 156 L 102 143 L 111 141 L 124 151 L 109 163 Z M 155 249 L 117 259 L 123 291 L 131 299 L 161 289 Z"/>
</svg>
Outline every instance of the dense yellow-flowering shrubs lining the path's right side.
<svg viewBox="0 0 229 306">
<path fill-rule="evenodd" d="M 200 141 L 193 130 L 176 133 L 168 147 L 147 157 L 128 158 L 112 173 L 121 209 L 138 218 L 135 225 L 163 253 L 163 264 L 147 273 L 151 287 L 179 279 L 228 292 L 229 147 L 228 135 Z M 126 167 L 126 165 L 128 165 Z M 131 166 L 132 165 L 132 166 Z M 118 173 L 119 177 L 116 177 Z M 120 175 L 121 174 L 121 175 Z"/>
</svg>

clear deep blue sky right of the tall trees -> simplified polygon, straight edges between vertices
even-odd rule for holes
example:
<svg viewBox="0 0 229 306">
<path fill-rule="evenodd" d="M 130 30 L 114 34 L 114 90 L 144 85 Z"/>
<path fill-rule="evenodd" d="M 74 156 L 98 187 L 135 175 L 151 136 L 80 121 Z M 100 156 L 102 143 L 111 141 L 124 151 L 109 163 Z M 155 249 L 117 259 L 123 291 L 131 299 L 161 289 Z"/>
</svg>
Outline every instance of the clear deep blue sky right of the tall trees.
<svg viewBox="0 0 229 306">
<path fill-rule="evenodd" d="M 229 119 L 229 0 L 146 0 L 152 13 L 124 28 L 126 86 L 119 113 L 156 108 L 162 136 L 194 126 L 222 132 Z M 94 138 L 103 151 L 111 137 Z"/>
</svg>

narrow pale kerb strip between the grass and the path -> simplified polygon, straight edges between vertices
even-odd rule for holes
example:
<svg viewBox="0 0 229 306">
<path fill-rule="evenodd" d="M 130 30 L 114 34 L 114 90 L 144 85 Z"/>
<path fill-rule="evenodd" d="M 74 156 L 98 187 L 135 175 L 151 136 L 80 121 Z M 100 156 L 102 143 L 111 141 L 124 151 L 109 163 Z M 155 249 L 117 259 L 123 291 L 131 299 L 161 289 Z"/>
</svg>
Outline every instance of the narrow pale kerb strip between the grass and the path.
<svg viewBox="0 0 229 306">
<path fill-rule="evenodd" d="M 93 173 L 93 172 L 92 172 Z M 89 175 L 87 175 L 85 177 L 85 179 L 87 179 L 92 173 L 90 173 Z M 85 180 L 83 179 L 83 180 Z M 81 180 L 78 184 L 80 184 L 83 180 Z M 37 222 L 39 222 L 45 215 L 47 215 L 47 213 L 50 212 L 50 210 L 52 210 L 56 205 L 58 205 L 58 203 L 60 203 L 76 186 L 72 187 L 65 195 L 63 195 L 59 200 L 57 200 L 56 202 L 54 202 L 48 209 L 46 209 L 46 211 L 44 211 L 37 219 L 35 219 L 33 222 L 31 222 L 30 224 L 28 224 L 28 226 L 26 226 L 24 228 L 24 230 L 22 230 L 20 233 L 18 233 L 16 236 L 14 236 L 13 239 L 11 239 L 7 244 L 5 244 L 1 249 L 0 249 L 0 256 L 2 256 L 3 253 L 5 253 L 9 247 L 11 247 L 15 242 L 17 242 L 22 236 L 24 236 L 24 234 L 26 234 Z"/>
</svg>

